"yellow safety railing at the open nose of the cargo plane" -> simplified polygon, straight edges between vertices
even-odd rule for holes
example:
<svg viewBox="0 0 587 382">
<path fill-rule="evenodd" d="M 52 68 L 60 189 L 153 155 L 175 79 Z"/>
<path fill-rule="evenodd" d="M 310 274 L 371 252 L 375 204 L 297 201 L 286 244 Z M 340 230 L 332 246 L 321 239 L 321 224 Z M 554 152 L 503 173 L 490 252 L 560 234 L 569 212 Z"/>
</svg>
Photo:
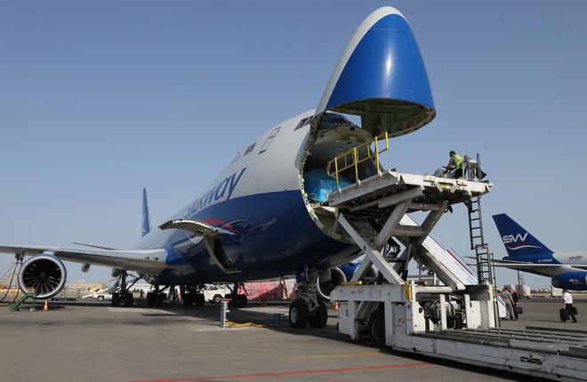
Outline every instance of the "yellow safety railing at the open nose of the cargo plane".
<svg viewBox="0 0 587 382">
<path fill-rule="evenodd" d="M 384 140 L 385 147 L 379 148 L 379 141 Z M 380 173 L 379 167 L 379 155 L 387 151 L 390 148 L 390 137 L 387 131 L 376 136 L 374 139 L 359 145 L 352 147 L 349 151 L 342 153 L 341 155 L 335 156 L 333 160 L 329 161 L 326 165 L 326 172 L 329 176 L 336 179 L 336 187 L 341 190 L 338 179 L 339 174 L 342 171 L 355 168 L 355 182 L 357 185 L 361 184 L 361 179 L 358 178 L 358 164 L 372 160 L 374 158 L 377 172 Z"/>
</svg>

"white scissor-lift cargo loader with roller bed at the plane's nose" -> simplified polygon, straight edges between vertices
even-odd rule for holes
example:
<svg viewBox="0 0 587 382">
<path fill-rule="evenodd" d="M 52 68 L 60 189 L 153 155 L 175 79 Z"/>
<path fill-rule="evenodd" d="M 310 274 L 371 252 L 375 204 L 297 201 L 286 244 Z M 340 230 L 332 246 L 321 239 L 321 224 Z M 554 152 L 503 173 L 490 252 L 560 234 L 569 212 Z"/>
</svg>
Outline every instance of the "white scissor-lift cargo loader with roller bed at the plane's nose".
<svg viewBox="0 0 587 382">
<path fill-rule="evenodd" d="M 331 294 L 340 305 L 339 330 L 351 339 L 366 330 L 375 343 L 403 352 L 536 377 L 585 378 L 587 332 L 498 328 L 489 274 L 471 276 L 430 238 L 449 205 L 468 203 L 490 187 L 479 179 L 380 171 L 330 193 L 328 207 L 337 223 L 366 255 L 350 283 Z M 414 211 L 427 213 L 421 225 L 407 215 Z M 385 224 L 374 225 L 377 229 L 368 224 L 370 217 L 382 215 Z M 401 243 L 403 251 L 388 256 L 384 249 L 390 240 Z M 408 281 L 412 259 L 439 283 Z M 372 266 L 381 274 L 376 282 L 364 277 Z"/>
</svg>

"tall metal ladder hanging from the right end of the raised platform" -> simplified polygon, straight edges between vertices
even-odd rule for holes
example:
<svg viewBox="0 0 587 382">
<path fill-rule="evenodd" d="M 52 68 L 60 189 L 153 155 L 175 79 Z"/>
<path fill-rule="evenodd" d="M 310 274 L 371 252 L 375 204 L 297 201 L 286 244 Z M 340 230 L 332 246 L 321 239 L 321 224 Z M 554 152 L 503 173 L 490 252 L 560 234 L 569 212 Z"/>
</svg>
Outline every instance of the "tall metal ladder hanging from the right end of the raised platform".
<svg viewBox="0 0 587 382">
<path fill-rule="evenodd" d="M 470 249 L 475 251 L 478 283 L 495 285 L 495 270 L 492 266 L 493 253 L 489 251 L 489 244 L 485 243 L 483 236 L 481 195 L 473 196 L 466 204 L 469 211 Z"/>
</svg>

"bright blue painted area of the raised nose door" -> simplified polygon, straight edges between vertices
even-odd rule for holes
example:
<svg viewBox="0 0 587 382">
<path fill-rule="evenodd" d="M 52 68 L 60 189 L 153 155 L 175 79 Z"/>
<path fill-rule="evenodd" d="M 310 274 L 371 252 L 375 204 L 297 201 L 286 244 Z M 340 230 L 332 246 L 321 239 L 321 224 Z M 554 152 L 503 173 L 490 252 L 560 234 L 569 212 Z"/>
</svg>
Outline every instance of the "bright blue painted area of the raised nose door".
<svg viewBox="0 0 587 382">
<path fill-rule="evenodd" d="M 378 20 L 342 70 L 326 108 L 358 99 L 400 99 L 434 108 L 414 33 L 398 14 Z"/>
</svg>

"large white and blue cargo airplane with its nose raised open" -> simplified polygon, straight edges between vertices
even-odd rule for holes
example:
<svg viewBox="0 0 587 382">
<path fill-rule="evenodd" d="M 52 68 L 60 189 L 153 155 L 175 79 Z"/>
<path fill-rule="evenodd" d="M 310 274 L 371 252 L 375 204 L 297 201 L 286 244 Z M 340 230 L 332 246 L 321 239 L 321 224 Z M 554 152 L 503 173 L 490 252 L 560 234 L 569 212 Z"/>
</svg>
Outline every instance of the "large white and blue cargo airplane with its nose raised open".
<svg viewBox="0 0 587 382">
<path fill-rule="evenodd" d="M 360 126 L 344 115 L 358 115 Z M 205 283 L 295 275 L 300 292 L 290 306 L 292 326 L 324 327 L 320 286 L 340 281 L 339 267 L 360 254 L 335 224 L 334 211 L 320 203 L 336 189 L 326 163 L 383 132 L 397 137 L 416 131 L 435 115 L 414 33 L 398 10 L 382 7 L 351 37 L 315 110 L 278 123 L 249 142 L 203 195 L 158 227 L 150 225 L 143 193 L 142 238 L 133 249 L 0 244 L 0 251 L 28 257 L 19 284 L 38 298 L 50 298 L 63 288 L 61 260 L 81 263 L 84 270 L 112 267 L 122 285 L 130 271 L 153 285 L 179 285 L 186 305 L 204 303 Z M 359 176 L 377 170 L 367 161 L 360 164 Z M 339 180 L 343 186 L 352 179 Z M 372 222 L 384 222 L 377 219 Z M 156 304 L 157 295 L 148 300 Z M 113 305 L 121 302 L 132 304 L 124 289 L 113 296 Z"/>
</svg>

